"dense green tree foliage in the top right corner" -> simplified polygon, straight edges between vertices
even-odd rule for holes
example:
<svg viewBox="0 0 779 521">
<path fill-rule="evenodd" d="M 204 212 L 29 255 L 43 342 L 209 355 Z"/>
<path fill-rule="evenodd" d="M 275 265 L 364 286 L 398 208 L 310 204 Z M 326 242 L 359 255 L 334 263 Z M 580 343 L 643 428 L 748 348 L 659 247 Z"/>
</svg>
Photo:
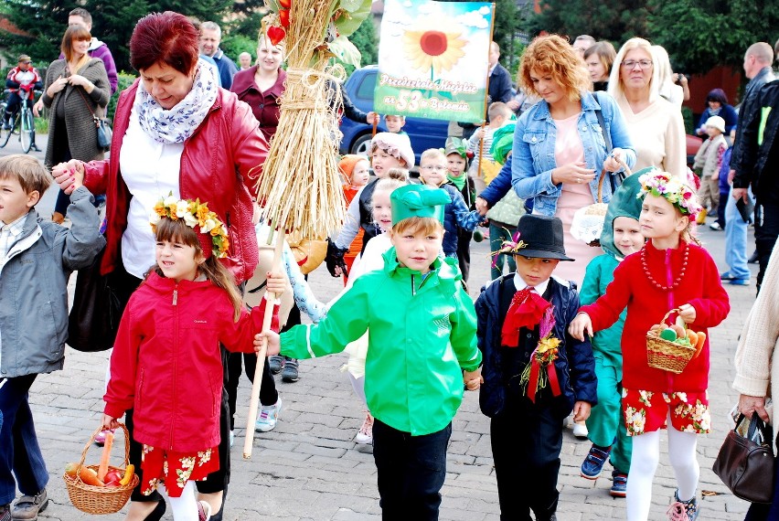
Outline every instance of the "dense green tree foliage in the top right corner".
<svg viewBox="0 0 779 521">
<path fill-rule="evenodd" d="M 740 70 L 754 42 L 772 47 L 779 34 L 779 0 L 651 0 L 653 43 L 671 56 L 674 69 L 705 73 L 718 65 Z"/>
</svg>

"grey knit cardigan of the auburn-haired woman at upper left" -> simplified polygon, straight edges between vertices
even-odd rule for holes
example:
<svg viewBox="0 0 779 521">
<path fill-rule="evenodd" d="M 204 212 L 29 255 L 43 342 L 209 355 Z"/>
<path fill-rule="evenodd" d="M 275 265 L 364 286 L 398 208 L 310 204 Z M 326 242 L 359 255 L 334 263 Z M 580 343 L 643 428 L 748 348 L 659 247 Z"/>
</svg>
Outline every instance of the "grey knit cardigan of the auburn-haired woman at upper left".
<svg viewBox="0 0 779 521">
<path fill-rule="evenodd" d="M 91 161 L 103 158 L 103 151 L 97 144 L 97 128 L 84 99 L 86 98 L 87 102 L 90 103 L 91 109 L 96 115 L 100 117 L 105 115 L 105 107 L 108 105 L 109 98 L 111 97 L 111 85 L 108 82 L 105 65 L 103 65 L 100 58 L 91 58 L 78 71 L 77 74 L 94 84 L 95 88 L 91 93 L 87 93 L 81 87 L 68 85 L 65 89 L 55 94 L 53 98 L 49 98 L 46 93 L 49 85 L 60 76 L 68 75 L 66 65 L 67 63 L 64 59 L 56 59 L 51 62 L 46 72 L 46 85 L 41 97 L 43 104 L 48 108 L 56 107 L 59 98 L 62 98 L 62 102 L 65 103 L 65 128 L 58 128 L 57 126 L 56 109 L 49 111 L 48 146 L 45 159 L 48 168 L 54 166 L 55 133 L 68 133 L 68 145 L 73 159 Z M 76 90 L 80 90 L 84 96 L 81 97 L 81 94 Z"/>
</svg>

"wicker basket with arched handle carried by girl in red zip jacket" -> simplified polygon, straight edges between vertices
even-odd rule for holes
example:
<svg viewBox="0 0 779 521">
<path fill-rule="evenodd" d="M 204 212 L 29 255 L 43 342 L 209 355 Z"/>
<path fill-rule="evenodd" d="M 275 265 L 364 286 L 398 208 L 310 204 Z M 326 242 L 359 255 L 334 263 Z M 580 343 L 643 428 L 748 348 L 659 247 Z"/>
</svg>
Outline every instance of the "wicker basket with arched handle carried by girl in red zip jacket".
<svg viewBox="0 0 779 521">
<path fill-rule="evenodd" d="M 127 467 L 127 463 L 130 458 L 130 433 L 127 428 L 120 423 L 119 426 L 124 431 L 124 463 L 123 467 Z M 84 447 L 84 451 L 81 452 L 81 461 L 79 463 L 79 469 L 84 465 L 84 460 L 87 457 L 87 451 L 90 450 L 92 441 L 95 436 L 102 431 L 102 427 L 99 427 L 97 431 L 94 431 L 90 441 L 87 441 L 87 445 Z M 97 472 L 99 465 L 87 465 Z M 109 470 L 122 471 L 121 467 L 114 467 L 109 465 Z M 70 477 L 68 474 L 63 474 L 62 478 L 65 480 L 65 486 L 68 487 L 68 495 L 70 496 L 70 503 L 78 508 L 81 512 L 87 514 L 113 514 L 122 510 L 122 507 L 126 505 L 127 500 L 130 499 L 130 494 L 133 494 L 133 488 L 138 484 L 138 474 L 133 475 L 133 479 L 130 483 L 116 486 L 93 486 L 91 484 L 85 484 L 79 477 L 79 472 L 76 472 L 76 477 Z"/>
</svg>

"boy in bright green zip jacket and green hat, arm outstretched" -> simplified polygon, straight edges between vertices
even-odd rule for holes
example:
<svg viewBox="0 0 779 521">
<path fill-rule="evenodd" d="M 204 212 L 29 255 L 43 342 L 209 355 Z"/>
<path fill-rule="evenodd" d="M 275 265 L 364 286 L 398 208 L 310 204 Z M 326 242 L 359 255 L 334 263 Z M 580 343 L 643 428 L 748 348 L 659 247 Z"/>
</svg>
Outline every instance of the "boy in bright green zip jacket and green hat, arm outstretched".
<svg viewBox="0 0 779 521">
<path fill-rule="evenodd" d="M 340 353 L 368 330 L 365 394 L 385 519 L 438 519 L 452 419 L 463 384 L 481 381 L 474 304 L 457 260 L 438 257 L 449 202 L 440 188 L 396 189 L 384 270 L 360 277 L 319 324 L 255 341 L 267 339 L 269 356 L 281 343 L 282 355 L 310 358 Z"/>
</svg>

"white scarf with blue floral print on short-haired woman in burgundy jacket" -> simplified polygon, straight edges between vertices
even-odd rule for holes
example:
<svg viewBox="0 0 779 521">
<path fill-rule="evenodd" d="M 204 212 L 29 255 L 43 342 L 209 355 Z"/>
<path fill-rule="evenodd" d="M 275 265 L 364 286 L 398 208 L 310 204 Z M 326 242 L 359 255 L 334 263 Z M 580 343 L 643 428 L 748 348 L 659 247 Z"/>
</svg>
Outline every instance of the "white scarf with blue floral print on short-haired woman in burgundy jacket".
<svg viewBox="0 0 779 521">
<path fill-rule="evenodd" d="M 141 79 L 135 97 L 135 109 L 144 132 L 158 143 L 184 143 L 206 119 L 217 100 L 219 82 L 214 69 L 198 61 L 192 90 L 170 110 L 165 110 L 155 101 L 144 88 L 144 80 Z"/>
</svg>

